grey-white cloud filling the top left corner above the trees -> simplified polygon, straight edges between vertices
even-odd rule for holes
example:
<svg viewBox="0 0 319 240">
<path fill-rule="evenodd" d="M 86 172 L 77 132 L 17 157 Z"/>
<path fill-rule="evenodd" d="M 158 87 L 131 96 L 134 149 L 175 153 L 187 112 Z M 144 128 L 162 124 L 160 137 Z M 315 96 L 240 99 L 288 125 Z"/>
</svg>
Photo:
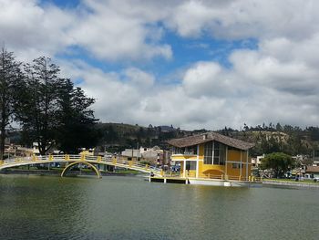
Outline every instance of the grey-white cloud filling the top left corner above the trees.
<svg viewBox="0 0 319 240">
<path fill-rule="evenodd" d="M 0 40 L 23 60 L 52 56 L 73 43 L 66 31 L 74 18 L 54 5 L 44 9 L 36 0 L 0 0 L 0 13 Z"/>
</svg>

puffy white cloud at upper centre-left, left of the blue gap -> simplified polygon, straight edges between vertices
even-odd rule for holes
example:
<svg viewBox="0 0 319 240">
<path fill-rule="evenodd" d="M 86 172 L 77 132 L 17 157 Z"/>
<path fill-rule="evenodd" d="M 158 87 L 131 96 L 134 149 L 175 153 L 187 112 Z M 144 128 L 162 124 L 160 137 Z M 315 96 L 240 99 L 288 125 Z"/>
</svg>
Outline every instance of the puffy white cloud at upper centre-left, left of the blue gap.
<svg viewBox="0 0 319 240">
<path fill-rule="evenodd" d="M 146 43 L 154 28 L 135 16 L 125 16 L 109 5 L 98 5 L 79 20 L 70 31 L 77 45 L 85 47 L 95 57 L 109 60 L 171 57 L 169 45 Z"/>
</svg>

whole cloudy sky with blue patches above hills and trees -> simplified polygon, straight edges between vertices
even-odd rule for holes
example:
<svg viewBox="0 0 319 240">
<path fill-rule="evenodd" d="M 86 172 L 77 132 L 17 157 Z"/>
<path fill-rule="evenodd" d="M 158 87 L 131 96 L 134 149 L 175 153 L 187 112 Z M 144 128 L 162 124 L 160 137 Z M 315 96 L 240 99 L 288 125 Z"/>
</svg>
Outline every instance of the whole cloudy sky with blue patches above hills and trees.
<svg viewBox="0 0 319 240">
<path fill-rule="evenodd" d="M 51 57 L 102 122 L 319 124 L 319 1 L 0 0 L 0 42 Z"/>
</svg>

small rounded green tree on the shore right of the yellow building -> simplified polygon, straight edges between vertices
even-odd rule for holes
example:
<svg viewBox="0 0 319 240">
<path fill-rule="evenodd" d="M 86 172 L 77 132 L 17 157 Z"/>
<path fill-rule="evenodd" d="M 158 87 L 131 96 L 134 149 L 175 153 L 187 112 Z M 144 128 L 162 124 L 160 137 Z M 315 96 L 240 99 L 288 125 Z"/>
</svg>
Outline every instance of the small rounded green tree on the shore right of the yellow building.
<svg viewBox="0 0 319 240">
<path fill-rule="evenodd" d="M 290 155 L 283 152 L 273 152 L 262 159 L 261 169 L 272 169 L 274 177 L 280 177 L 293 166 L 293 158 Z"/>
</svg>

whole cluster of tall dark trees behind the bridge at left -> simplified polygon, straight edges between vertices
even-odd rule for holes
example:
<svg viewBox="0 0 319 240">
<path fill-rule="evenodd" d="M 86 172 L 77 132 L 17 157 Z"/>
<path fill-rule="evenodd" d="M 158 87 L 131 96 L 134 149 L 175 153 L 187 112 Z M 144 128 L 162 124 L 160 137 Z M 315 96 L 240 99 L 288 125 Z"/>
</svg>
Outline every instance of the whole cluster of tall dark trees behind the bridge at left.
<svg viewBox="0 0 319 240">
<path fill-rule="evenodd" d="M 22 128 L 20 143 L 37 142 L 42 155 L 53 146 L 67 153 L 96 146 L 97 120 L 89 109 L 94 99 L 70 79 L 61 78 L 60 69 L 48 57 L 38 57 L 22 68 L 4 47 L 0 54 L 0 159 L 14 120 Z"/>
</svg>

